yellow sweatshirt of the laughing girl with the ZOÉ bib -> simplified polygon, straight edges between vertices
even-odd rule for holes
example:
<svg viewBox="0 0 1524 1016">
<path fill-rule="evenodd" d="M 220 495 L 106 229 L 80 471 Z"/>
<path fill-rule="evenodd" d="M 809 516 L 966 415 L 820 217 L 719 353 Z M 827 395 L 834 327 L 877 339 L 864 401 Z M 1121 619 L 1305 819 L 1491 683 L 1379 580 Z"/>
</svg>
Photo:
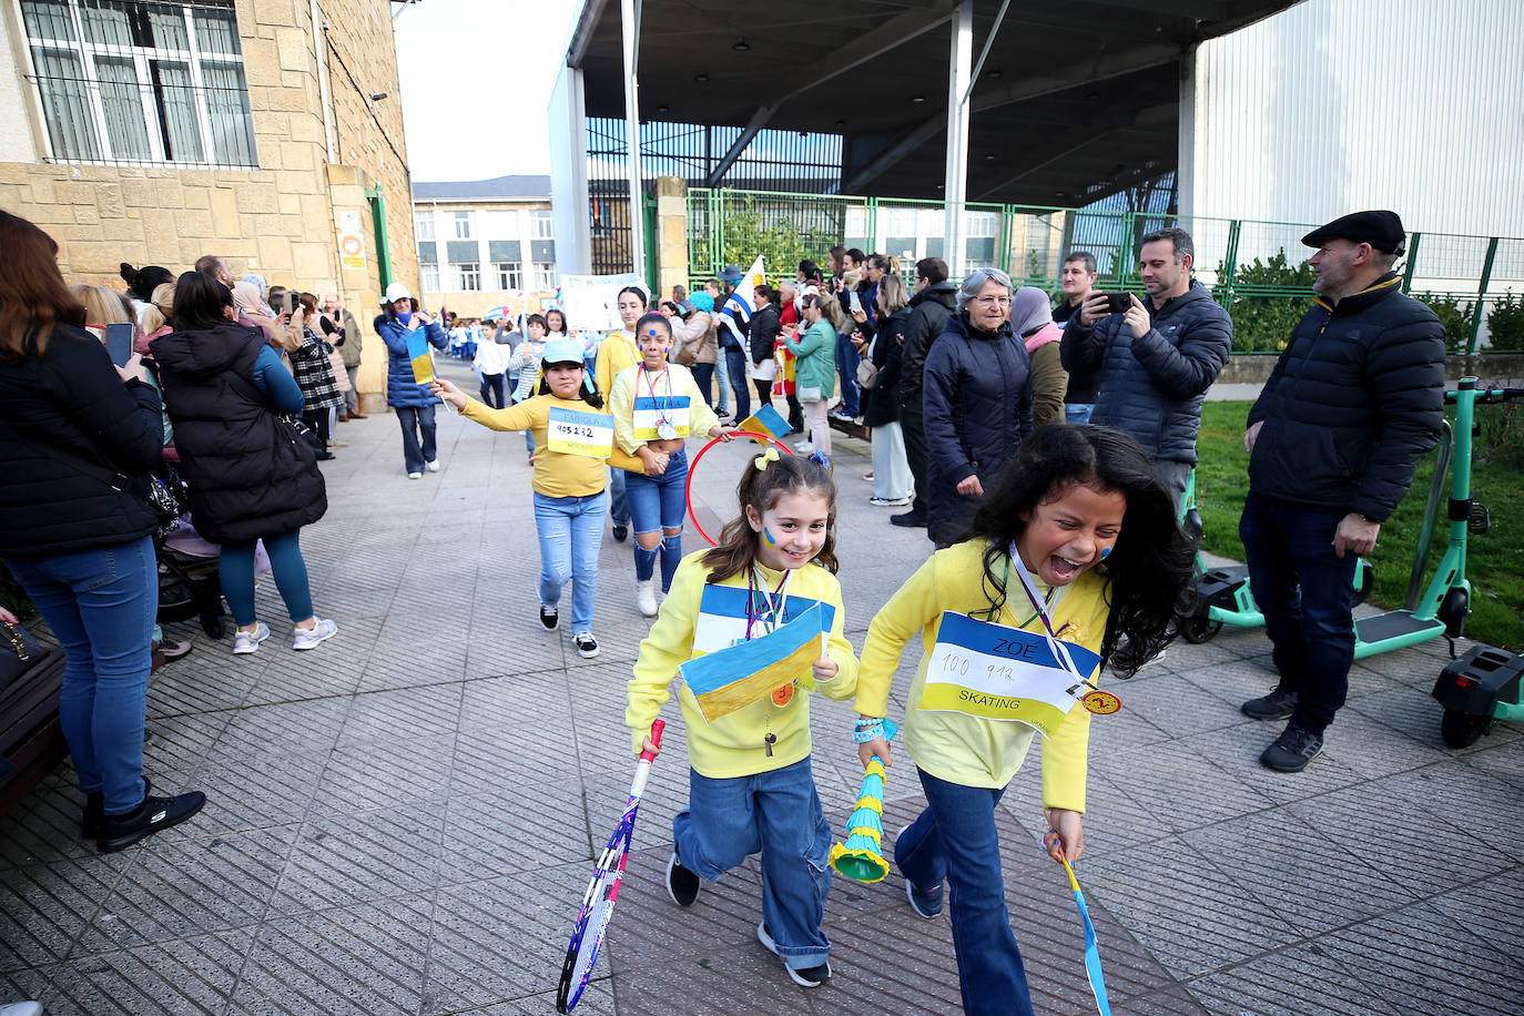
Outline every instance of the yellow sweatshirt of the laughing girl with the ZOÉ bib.
<svg viewBox="0 0 1524 1016">
<path fill-rule="evenodd" d="M 899 666 L 905 643 L 919 631 L 922 657 L 910 685 L 905 713 L 905 748 L 916 765 L 939 780 L 963 786 L 1003 788 L 1021 768 L 1032 745 L 1033 730 L 1013 720 L 994 720 L 965 713 L 933 711 L 919 707 L 927 682 L 927 661 L 937 641 L 943 611 L 986 620 L 989 594 L 985 591 L 985 542 L 954 544 L 931 554 L 916 574 L 899 586 L 869 626 L 863 643 L 863 670 L 858 678 L 856 710 L 864 716 L 885 716 L 888 685 Z M 1036 580 L 1038 591 L 1047 586 Z M 1100 652 L 1109 608 L 1105 600 L 1106 577 L 1094 570 L 1059 589 L 1049 615 L 1065 643 Z M 1032 617 L 1029 621 L 1027 618 Z M 1021 591 L 1021 580 L 1007 582 L 1006 605 L 994 618 L 997 625 L 1041 632 Z M 1087 675 L 1094 679 L 1094 675 Z M 1042 804 L 1085 810 L 1085 752 L 1090 745 L 1090 713 L 1074 707 L 1053 737 L 1042 745 Z"/>
</svg>

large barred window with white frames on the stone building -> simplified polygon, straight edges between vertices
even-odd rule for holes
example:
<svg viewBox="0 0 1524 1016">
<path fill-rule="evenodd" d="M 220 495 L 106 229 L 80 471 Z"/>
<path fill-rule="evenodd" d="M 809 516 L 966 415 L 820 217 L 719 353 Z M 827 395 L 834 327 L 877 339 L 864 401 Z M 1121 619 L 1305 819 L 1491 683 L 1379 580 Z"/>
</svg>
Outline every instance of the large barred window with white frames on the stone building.
<svg viewBox="0 0 1524 1016">
<path fill-rule="evenodd" d="M 232 0 L 21 0 L 52 157 L 258 166 Z"/>
</svg>

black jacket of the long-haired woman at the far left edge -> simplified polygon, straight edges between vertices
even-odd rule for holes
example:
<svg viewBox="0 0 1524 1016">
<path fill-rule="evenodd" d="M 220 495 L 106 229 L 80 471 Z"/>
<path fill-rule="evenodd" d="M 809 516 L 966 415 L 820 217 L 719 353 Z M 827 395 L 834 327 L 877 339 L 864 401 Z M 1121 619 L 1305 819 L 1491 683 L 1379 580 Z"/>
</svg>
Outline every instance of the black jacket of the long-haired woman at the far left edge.
<svg viewBox="0 0 1524 1016">
<path fill-rule="evenodd" d="M 18 440 L 24 437 L 26 440 Z M 131 477 L 113 489 L 50 449 Z M 56 326 L 43 356 L 0 361 L 0 558 L 111 547 L 154 532 L 142 498 L 163 458 L 158 393 L 122 384 L 90 332 Z"/>
</svg>

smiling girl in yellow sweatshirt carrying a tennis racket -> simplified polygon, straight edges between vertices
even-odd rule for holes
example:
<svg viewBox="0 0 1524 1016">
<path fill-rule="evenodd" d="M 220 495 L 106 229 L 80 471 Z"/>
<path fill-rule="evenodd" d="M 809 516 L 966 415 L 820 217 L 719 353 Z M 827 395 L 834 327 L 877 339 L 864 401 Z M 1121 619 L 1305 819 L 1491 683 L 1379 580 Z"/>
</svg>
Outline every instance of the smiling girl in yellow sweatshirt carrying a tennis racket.
<svg viewBox="0 0 1524 1016">
<path fill-rule="evenodd" d="M 666 704 L 678 667 L 750 641 L 818 605 L 824 653 L 786 684 L 735 711 L 704 717 L 684 685 L 689 801 L 672 820 L 668 893 L 678 906 L 698 899 L 700 877 L 762 851 L 762 922 L 757 940 L 789 978 L 815 987 L 831 976 L 831 940 L 820 928 L 831 888 L 831 824 L 809 768 L 809 692 L 846 699 L 856 660 L 843 637 L 837 582 L 835 484 L 818 463 L 776 449 L 753 458 L 741 478 L 741 515 L 719 545 L 689 554 L 651 634 L 640 643 L 625 724 L 636 751 L 657 751 L 651 722 Z M 817 637 L 811 638 L 815 643 Z M 736 675 L 738 678 L 745 675 Z"/>
</svg>

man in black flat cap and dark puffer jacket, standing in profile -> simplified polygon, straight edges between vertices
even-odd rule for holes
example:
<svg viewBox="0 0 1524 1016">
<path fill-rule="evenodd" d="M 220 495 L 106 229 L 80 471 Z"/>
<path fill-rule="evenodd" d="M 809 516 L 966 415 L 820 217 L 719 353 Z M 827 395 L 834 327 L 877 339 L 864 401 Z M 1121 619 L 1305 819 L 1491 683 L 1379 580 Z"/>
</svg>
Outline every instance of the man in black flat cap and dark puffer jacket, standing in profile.
<svg viewBox="0 0 1524 1016">
<path fill-rule="evenodd" d="M 1356 212 L 1301 238 L 1318 248 L 1318 296 L 1248 414 L 1239 536 L 1280 684 L 1244 713 L 1289 717 L 1260 756 L 1280 772 L 1323 751 L 1355 661 L 1355 558 L 1439 443 L 1445 329 L 1391 271 L 1405 241 L 1394 212 Z"/>
</svg>

